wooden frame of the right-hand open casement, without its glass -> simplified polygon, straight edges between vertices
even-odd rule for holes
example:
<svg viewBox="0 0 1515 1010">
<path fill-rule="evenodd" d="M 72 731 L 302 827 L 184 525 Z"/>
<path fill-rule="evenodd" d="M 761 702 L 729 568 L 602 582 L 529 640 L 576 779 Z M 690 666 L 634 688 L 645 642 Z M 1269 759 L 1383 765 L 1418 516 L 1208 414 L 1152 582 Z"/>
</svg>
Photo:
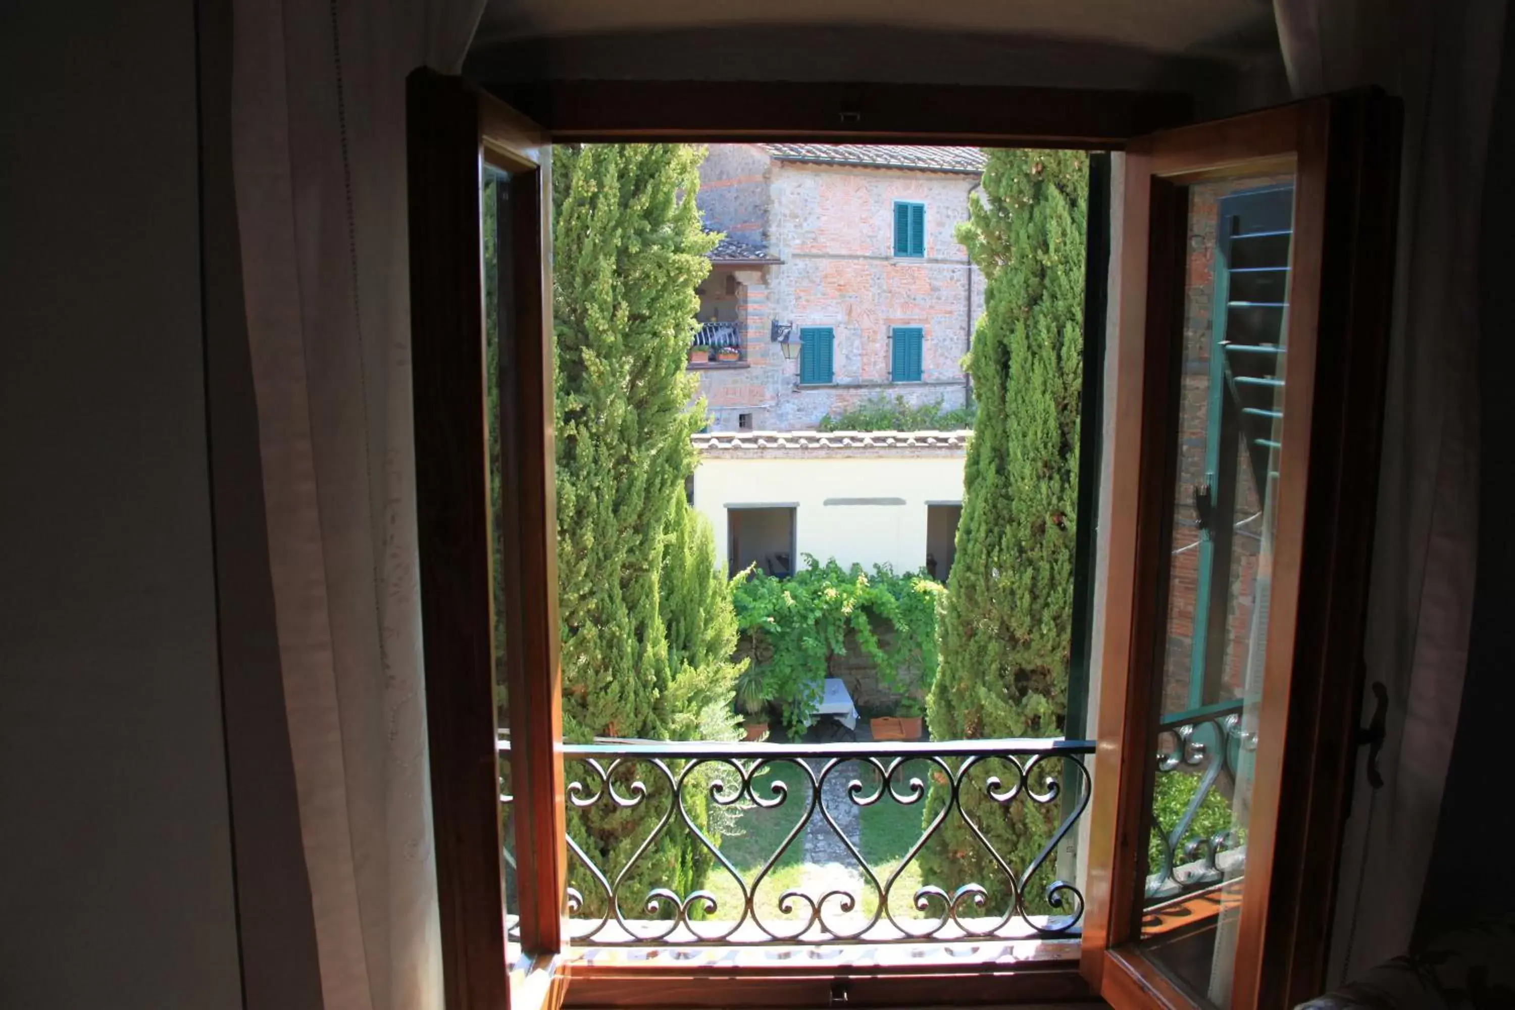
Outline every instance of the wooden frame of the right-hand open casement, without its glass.
<svg viewBox="0 0 1515 1010">
<path fill-rule="evenodd" d="M 1153 775 L 1150 671 L 1160 662 L 1167 619 L 1162 530 L 1174 495 L 1170 365 L 1185 310 L 1182 185 L 1270 168 L 1295 174 L 1283 407 L 1291 448 L 1280 477 L 1259 721 L 1259 737 L 1282 745 L 1273 760 L 1257 763 L 1232 1010 L 1294 1005 L 1324 981 L 1362 690 L 1397 115 L 1382 94 L 1356 92 L 1171 130 L 1126 148 L 1109 495 L 1136 507 L 1115 509 L 1106 530 L 1094 771 L 1103 787 L 1095 787 L 1091 812 L 1080 952 L 1091 986 L 1117 1010 L 1197 1005 L 1136 943 Z"/>
</svg>

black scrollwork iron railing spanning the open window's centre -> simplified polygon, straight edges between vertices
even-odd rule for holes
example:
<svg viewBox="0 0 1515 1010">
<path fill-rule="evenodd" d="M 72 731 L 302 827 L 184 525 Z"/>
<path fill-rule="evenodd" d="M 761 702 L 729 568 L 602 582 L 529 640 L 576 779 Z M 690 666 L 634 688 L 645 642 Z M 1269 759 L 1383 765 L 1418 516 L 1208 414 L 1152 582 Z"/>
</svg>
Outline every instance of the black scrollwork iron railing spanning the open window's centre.
<svg viewBox="0 0 1515 1010">
<path fill-rule="evenodd" d="M 501 757 L 508 750 L 501 742 Z M 1070 883 L 1070 846 L 1089 806 L 1089 740 L 612 742 L 562 751 L 576 943 L 1080 934 L 1083 895 Z M 1018 824 L 1050 824 L 1051 833 L 1024 866 L 1012 866 L 965 810 L 970 795 L 970 806 Z M 950 824 L 965 828 L 956 830 L 956 843 L 968 839 L 992 880 L 923 878 L 920 856 Z M 604 837 L 617 833 L 624 837 L 620 851 L 608 851 Z M 665 845 L 685 856 L 670 857 Z M 700 878 L 683 886 L 664 878 L 691 859 L 704 863 Z"/>
</svg>

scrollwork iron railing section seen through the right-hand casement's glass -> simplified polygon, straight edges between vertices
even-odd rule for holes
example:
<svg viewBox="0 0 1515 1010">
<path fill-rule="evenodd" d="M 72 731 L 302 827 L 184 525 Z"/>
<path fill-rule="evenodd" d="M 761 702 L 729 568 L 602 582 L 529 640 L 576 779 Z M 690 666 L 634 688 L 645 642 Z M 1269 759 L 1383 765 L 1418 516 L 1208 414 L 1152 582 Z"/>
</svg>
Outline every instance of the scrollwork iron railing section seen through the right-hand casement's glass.
<svg viewBox="0 0 1515 1010">
<path fill-rule="evenodd" d="M 1157 784 L 1185 775 L 1188 792 L 1173 824 L 1162 824 L 1156 801 L 1147 868 L 1147 906 L 1203 890 L 1236 877 L 1245 862 L 1245 831 L 1232 810 L 1241 762 L 1257 750 L 1242 728 L 1242 700 L 1183 712 L 1157 724 Z M 1183 792 L 1177 793 L 1180 798 Z"/>
</svg>

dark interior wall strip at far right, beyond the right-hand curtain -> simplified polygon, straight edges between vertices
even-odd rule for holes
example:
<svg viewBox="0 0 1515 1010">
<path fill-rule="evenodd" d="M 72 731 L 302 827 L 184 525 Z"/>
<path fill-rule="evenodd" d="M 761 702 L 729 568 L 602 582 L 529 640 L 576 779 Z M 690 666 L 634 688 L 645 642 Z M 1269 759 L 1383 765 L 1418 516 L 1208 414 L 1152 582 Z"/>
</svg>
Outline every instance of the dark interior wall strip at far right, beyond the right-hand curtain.
<svg viewBox="0 0 1515 1010">
<path fill-rule="evenodd" d="M 1468 633 L 1457 734 L 1436 822 L 1417 945 L 1483 916 L 1515 912 L 1515 862 L 1497 846 L 1515 836 L 1515 806 L 1503 786 L 1509 713 L 1515 712 L 1515 535 L 1504 518 L 1515 501 L 1515 342 L 1506 288 L 1515 271 L 1515 17 L 1504 21 L 1504 61 L 1489 135 L 1479 242 L 1482 344 L 1479 347 L 1479 572 Z M 1495 849 L 1489 851 L 1488 845 Z"/>
</svg>

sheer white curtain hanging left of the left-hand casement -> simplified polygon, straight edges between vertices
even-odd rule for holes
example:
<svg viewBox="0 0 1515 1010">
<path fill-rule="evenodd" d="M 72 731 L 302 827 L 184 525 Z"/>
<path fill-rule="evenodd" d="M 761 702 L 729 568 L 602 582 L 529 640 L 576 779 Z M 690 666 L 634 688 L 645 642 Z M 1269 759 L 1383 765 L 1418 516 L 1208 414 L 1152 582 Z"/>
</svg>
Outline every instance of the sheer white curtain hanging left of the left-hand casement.
<svg viewBox="0 0 1515 1010">
<path fill-rule="evenodd" d="M 415 563 L 405 77 L 421 65 L 456 73 L 482 8 L 233 0 L 242 280 L 329 1010 L 442 1005 Z"/>
</svg>

